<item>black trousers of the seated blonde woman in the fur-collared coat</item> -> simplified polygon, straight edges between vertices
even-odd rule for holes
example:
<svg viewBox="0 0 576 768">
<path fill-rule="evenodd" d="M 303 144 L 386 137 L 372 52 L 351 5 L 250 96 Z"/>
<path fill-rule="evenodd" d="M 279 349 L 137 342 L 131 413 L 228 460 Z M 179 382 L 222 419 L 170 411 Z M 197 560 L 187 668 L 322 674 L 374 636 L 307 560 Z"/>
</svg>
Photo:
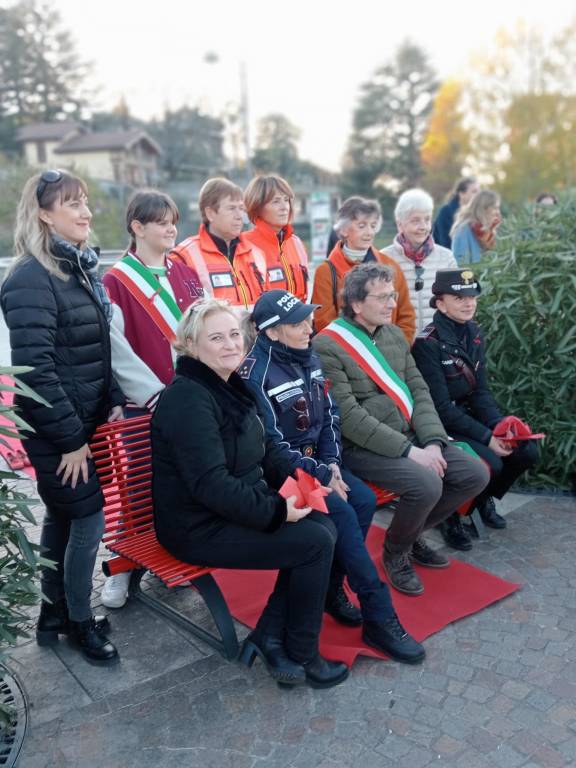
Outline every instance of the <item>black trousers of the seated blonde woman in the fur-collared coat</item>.
<svg viewBox="0 0 576 768">
<path fill-rule="evenodd" d="M 278 568 L 256 635 L 281 637 L 295 661 L 310 661 L 318 654 L 336 535 L 334 524 L 321 512 L 285 523 L 273 533 L 229 524 L 200 539 L 198 547 L 190 549 L 190 562 L 219 568 Z"/>
</svg>

